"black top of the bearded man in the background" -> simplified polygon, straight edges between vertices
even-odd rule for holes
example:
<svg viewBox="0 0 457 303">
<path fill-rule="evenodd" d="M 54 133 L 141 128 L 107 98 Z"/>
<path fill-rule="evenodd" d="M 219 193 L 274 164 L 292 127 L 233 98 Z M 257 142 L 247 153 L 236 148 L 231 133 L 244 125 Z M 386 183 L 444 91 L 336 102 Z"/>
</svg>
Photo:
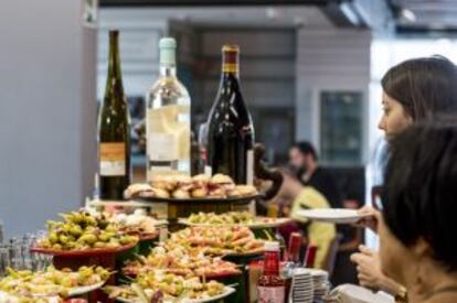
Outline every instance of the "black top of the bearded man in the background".
<svg viewBox="0 0 457 303">
<path fill-rule="evenodd" d="M 321 193 L 329 202 L 330 207 L 342 208 L 341 191 L 329 171 L 322 167 L 317 167 L 307 182 L 304 182 L 301 176 L 299 177 L 300 182 L 304 185 L 311 186 Z"/>
</svg>

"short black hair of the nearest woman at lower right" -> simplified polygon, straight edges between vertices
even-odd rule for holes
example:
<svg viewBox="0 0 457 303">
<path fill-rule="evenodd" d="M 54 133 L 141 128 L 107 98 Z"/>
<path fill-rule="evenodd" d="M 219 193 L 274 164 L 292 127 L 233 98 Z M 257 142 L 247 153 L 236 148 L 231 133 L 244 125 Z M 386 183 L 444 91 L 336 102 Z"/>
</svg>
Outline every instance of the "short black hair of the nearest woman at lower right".
<svg viewBox="0 0 457 303">
<path fill-rule="evenodd" d="M 392 140 L 383 216 L 403 245 L 423 238 L 435 260 L 457 271 L 457 123 L 456 117 L 436 118 Z"/>
</svg>

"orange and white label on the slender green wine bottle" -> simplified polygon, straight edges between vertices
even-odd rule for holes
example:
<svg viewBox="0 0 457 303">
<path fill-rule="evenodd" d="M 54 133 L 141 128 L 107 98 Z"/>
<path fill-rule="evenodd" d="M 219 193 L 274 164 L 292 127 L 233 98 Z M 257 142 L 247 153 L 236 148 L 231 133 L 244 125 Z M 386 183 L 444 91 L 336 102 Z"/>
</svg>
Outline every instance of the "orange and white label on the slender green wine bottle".
<svg viewBox="0 0 457 303">
<path fill-rule="evenodd" d="M 100 175 L 126 174 L 126 144 L 124 142 L 100 143 Z"/>
</svg>

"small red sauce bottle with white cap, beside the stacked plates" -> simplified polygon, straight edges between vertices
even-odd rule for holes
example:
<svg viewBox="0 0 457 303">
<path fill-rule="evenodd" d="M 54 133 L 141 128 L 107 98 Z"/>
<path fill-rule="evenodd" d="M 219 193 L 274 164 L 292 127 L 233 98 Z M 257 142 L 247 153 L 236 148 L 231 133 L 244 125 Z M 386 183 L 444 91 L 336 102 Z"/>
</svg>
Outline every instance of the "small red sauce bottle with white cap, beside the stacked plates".
<svg viewBox="0 0 457 303">
<path fill-rule="evenodd" d="M 279 275 L 279 244 L 265 242 L 264 274 L 257 282 L 258 303 L 284 303 L 286 281 Z"/>
</svg>

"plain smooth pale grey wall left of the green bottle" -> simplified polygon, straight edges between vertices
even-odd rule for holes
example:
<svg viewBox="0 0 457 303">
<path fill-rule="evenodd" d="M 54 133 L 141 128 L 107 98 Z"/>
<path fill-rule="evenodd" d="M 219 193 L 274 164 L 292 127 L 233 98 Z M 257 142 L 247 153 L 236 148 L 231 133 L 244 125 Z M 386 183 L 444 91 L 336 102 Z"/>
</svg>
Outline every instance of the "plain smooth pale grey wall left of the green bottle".
<svg viewBox="0 0 457 303">
<path fill-rule="evenodd" d="M 82 1 L 7 0 L 0 10 L 0 218 L 44 227 L 92 191 L 95 32 Z"/>
</svg>

